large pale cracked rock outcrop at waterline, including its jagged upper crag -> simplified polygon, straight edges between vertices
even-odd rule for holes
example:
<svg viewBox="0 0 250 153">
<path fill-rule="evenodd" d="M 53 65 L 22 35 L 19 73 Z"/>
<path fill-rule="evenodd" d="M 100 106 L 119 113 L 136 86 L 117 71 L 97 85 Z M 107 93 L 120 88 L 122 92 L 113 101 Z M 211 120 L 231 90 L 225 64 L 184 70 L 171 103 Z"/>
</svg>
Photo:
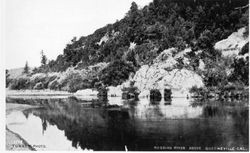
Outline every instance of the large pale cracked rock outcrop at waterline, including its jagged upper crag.
<svg viewBox="0 0 250 153">
<path fill-rule="evenodd" d="M 143 65 L 130 81 L 135 81 L 135 86 L 141 91 L 140 97 L 146 96 L 151 89 L 163 91 L 170 88 L 174 97 L 186 97 L 189 89 L 193 86 L 202 87 L 202 78 L 194 71 L 186 68 L 178 68 L 181 58 L 184 65 L 189 61 L 185 54 L 190 49 L 177 53 L 175 48 L 164 50 L 153 62 L 152 65 Z M 125 84 L 123 84 L 125 86 Z"/>
</svg>

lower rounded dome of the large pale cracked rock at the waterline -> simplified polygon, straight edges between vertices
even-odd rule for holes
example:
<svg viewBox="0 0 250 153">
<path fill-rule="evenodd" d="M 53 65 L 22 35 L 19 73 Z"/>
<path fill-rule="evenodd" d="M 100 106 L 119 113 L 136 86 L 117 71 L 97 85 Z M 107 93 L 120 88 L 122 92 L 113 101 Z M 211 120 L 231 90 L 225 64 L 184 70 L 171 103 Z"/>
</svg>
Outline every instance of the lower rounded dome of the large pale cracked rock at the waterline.
<svg viewBox="0 0 250 153">
<path fill-rule="evenodd" d="M 170 88 L 175 97 L 186 97 L 191 87 L 203 86 L 202 78 L 193 71 L 187 69 L 166 71 L 156 66 L 143 66 L 136 73 L 134 81 L 142 93 L 149 93 L 151 89 Z"/>
</svg>

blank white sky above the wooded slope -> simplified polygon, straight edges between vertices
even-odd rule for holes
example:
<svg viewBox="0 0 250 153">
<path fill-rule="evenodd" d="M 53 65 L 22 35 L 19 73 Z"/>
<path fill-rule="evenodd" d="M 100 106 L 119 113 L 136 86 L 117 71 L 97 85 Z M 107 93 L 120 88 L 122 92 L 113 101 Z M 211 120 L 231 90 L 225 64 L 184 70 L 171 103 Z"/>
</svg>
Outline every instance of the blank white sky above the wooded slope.
<svg viewBox="0 0 250 153">
<path fill-rule="evenodd" d="M 5 67 L 24 67 L 26 61 L 37 67 L 42 50 L 56 59 L 73 37 L 122 19 L 133 1 L 143 7 L 152 0 L 5 0 Z"/>
</svg>

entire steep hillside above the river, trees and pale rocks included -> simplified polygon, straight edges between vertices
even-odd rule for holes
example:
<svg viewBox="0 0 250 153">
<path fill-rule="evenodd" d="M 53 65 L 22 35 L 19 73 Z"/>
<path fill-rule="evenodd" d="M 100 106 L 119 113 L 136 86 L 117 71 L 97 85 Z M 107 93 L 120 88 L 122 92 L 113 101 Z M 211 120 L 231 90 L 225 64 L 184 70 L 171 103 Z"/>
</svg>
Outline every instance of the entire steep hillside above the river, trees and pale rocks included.
<svg viewBox="0 0 250 153">
<path fill-rule="evenodd" d="M 12 80 L 10 88 L 75 92 L 128 80 L 141 92 L 248 86 L 248 3 L 154 0 L 139 9 L 133 2 L 123 19 L 74 37 L 56 60 Z"/>
</svg>

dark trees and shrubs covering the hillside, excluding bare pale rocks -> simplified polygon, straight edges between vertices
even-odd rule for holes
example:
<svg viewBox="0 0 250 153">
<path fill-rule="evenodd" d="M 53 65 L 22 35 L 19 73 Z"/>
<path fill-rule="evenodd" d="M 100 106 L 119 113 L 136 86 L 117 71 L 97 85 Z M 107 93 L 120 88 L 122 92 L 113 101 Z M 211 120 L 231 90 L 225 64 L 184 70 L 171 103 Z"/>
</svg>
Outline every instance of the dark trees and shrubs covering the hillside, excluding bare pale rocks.
<svg viewBox="0 0 250 153">
<path fill-rule="evenodd" d="M 104 69 L 91 73 L 91 76 L 72 72 L 67 83 L 48 77 L 39 81 L 43 85 L 38 85 L 39 82 L 30 85 L 27 81 L 30 76 L 26 75 L 8 85 L 12 89 L 36 86 L 38 89 L 72 92 L 100 84 L 116 86 L 142 65 L 153 64 L 154 58 L 171 47 L 177 48 L 175 54 L 191 48 L 185 55 L 190 60 L 190 70 L 203 76 L 206 86 L 236 81 L 248 85 L 248 59 L 226 59 L 214 49 L 217 41 L 227 38 L 239 28 L 247 27 L 244 35 L 248 37 L 248 7 L 244 7 L 248 3 L 247 0 L 154 0 L 148 6 L 138 8 L 133 2 L 123 19 L 97 29 L 91 35 L 79 39 L 74 37 L 55 60 L 48 61 L 42 52 L 41 66 L 30 75 L 64 73 L 69 68 L 87 70 L 101 62 L 108 63 Z M 240 53 L 242 56 L 245 54 L 248 54 L 247 46 Z M 204 70 L 199 69 L 199 60 L 206 65 Z M 178 62 L 181 69 L 183 60 Z M 230 75 L 224 67 L 232 70 Z"/>
</svg>

